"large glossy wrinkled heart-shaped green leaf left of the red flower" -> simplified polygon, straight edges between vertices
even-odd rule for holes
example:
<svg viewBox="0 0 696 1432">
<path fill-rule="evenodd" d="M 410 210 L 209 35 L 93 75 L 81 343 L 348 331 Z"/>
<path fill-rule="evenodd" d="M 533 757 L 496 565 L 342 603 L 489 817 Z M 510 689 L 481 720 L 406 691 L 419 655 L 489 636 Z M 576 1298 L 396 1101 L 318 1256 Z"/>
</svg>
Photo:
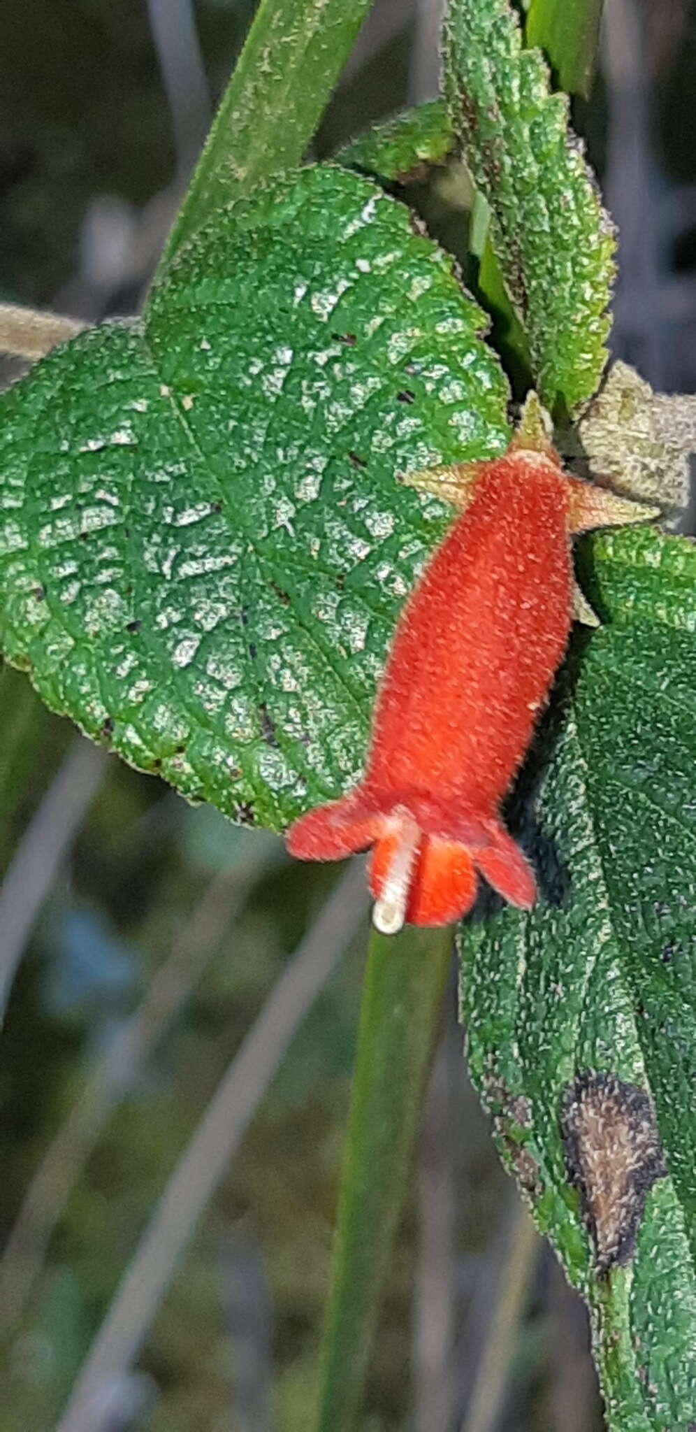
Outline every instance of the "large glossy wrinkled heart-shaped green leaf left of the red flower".
<svg viewBox="0 0 696 1432">
<path fill-rule="evenodd" d="M 0 606 L 43 699 L 272 829 L 361 768 L 444 504 L 397 483 L 504 450 L 481 311 L 405 208 L 302 170 L 186 248 L 142 322 L 0 404 Z"/>
</svg>

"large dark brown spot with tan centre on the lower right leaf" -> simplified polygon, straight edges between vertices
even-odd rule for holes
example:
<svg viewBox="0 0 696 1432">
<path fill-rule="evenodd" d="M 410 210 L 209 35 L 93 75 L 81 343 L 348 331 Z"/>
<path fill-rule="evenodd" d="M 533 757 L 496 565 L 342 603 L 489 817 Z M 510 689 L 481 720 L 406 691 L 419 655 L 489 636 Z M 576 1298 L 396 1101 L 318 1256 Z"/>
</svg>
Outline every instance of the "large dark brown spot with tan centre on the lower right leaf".
<svg viewBox="0 0 696 1432">
<path fill-rule="evenodd" d="M 667 1174 L 654 1106 L 636 1084 L 586 1070 L 563 1094 L 560 1123 L 569 1181 L 606 1277 L 633 1257 L 647 1194 Z"/>
</svg>

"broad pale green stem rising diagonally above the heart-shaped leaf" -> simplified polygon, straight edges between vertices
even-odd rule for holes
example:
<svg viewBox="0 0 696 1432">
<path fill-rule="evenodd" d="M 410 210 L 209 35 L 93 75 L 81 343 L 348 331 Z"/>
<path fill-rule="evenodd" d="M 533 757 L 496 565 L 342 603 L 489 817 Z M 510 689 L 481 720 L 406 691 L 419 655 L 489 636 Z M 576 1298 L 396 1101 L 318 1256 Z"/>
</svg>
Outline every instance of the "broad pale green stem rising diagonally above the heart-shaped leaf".
<svg viewBox="0 0 696 1432">
<path fill-rule="evenodd" d="M 160 274 L 223 205 L 301 163 L 369 6 L 371 0 L 261 0 Z"/>
</svg>

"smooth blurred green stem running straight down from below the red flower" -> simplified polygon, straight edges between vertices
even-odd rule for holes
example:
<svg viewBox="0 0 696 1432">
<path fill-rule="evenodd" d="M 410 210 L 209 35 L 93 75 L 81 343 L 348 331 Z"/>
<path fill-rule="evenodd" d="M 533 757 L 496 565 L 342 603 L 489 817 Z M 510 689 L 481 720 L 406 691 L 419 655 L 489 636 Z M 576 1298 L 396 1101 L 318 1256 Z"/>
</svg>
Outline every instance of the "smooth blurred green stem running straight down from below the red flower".
<svg viewBox="0 0 696 1432">
<path fill-rule="evenodd" d="M 375 932 L 369 942 L 316 1432 L 357 1425 L 451 951 L 451 929 Z"/>
</svg>

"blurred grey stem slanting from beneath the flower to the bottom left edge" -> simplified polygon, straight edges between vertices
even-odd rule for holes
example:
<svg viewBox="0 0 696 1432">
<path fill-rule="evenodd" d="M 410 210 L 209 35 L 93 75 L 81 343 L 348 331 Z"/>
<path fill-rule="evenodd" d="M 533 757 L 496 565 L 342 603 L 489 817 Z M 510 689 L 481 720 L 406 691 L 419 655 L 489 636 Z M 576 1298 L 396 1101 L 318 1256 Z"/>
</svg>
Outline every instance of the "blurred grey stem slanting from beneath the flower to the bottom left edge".
<svg viewBox="0 0 696 1432">
<path fill-rule="evenodd" d="M 162 1194 L 77 1376 L 56 1432 L 103 1432 L 193 1229 L 299 1024 L 367 914 L 351 862 L 268 997 Z"/>
</svg>

